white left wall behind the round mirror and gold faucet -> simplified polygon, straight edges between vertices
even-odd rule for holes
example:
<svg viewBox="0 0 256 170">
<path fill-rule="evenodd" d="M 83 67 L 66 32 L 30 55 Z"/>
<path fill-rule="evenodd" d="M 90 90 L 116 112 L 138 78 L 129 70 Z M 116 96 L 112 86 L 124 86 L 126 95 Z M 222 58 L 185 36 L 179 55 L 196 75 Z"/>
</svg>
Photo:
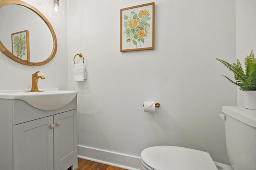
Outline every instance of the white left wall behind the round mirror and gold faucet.
<svg viewBox="0 0 256 170">
<path fill-rule="evenodd" d="M 24 0 L 32 4 L 30 0 Z M 66 0 L 62 0 L 66 7 Z M 0 53 L 0 90 L 31 89 L 31 74 L 40 71 L 38 75 L 45 76 L 46 79 L 38 80 L 38 88 L 59 88 L 66 90 L 67 86 L 67 12 L 62 17 L 56 17 L 48 11 L 48 0 L 42 5 L 33 4 L 50 21 L 56 32 L 58 49 L 52 61 L 43 66 L 26 66 L 16 63 L 12 59 Z M 29 20 L 29 18 L 26 18 Z M 36 24 L 35 21 L 31 21 Z M 2 23 L 1 23 L 2 24 Z M 21 30 L 22 31 L 22 30 Z M 10 35 L 11 38 L 11 35 Z M 44 47 L 41 47 L 44 50 Z M 33 56 L 30 56 L 32 58 Z"/>
</svg>

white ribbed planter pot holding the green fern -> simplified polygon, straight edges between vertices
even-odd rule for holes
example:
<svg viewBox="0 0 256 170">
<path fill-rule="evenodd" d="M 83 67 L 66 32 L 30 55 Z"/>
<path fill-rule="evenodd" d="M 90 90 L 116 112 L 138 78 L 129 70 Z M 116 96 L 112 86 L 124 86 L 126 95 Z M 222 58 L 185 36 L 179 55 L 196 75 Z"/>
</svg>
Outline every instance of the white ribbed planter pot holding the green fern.
<svg viewBox="0 0 256 170">
<path fill-rule="evenodd" d="M 256 91 L 245 90 L 243 91 L 244 107 L 246 109 L 256 110 Z"/>
</svg>

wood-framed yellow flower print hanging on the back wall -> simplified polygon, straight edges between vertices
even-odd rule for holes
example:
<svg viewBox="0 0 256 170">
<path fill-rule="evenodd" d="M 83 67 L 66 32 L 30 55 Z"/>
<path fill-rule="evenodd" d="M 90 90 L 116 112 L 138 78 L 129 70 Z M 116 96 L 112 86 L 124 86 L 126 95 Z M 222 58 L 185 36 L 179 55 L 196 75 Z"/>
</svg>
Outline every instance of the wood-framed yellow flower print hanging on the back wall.
<svg viewBox="0 0 256 170">
<path fill-rule="evenodd" d="M 120 51 L 154 49 L 155 3 L 120 10 Z"/>
</svg>

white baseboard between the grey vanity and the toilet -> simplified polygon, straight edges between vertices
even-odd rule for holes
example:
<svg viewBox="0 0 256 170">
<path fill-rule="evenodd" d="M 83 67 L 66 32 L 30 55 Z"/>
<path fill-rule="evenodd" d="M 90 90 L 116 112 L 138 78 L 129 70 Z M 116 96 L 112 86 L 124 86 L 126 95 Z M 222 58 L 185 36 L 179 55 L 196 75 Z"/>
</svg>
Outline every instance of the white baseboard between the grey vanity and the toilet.
<svg viewBox="0 0 256 170">
<path fill-rule="evenodd" d="M 78 145 L 78 157 L 128 170 L 140 169 L 140 157 L 111 152 L 108 150 Z"/>
</svg>

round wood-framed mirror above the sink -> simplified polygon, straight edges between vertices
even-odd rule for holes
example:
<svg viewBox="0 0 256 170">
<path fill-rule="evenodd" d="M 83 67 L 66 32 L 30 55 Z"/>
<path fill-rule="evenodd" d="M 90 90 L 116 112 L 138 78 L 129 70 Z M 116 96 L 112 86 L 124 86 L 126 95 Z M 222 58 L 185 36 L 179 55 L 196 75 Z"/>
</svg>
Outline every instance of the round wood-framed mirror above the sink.
<svg viewBox="0 0 256 170">
<path fill-rule="evenodd" d="M 57 51 L 54 29 L 36 8 L 20 0 L 0 0 L 0 51 L 29 66 L 50 62 Z"/>
</svg>

